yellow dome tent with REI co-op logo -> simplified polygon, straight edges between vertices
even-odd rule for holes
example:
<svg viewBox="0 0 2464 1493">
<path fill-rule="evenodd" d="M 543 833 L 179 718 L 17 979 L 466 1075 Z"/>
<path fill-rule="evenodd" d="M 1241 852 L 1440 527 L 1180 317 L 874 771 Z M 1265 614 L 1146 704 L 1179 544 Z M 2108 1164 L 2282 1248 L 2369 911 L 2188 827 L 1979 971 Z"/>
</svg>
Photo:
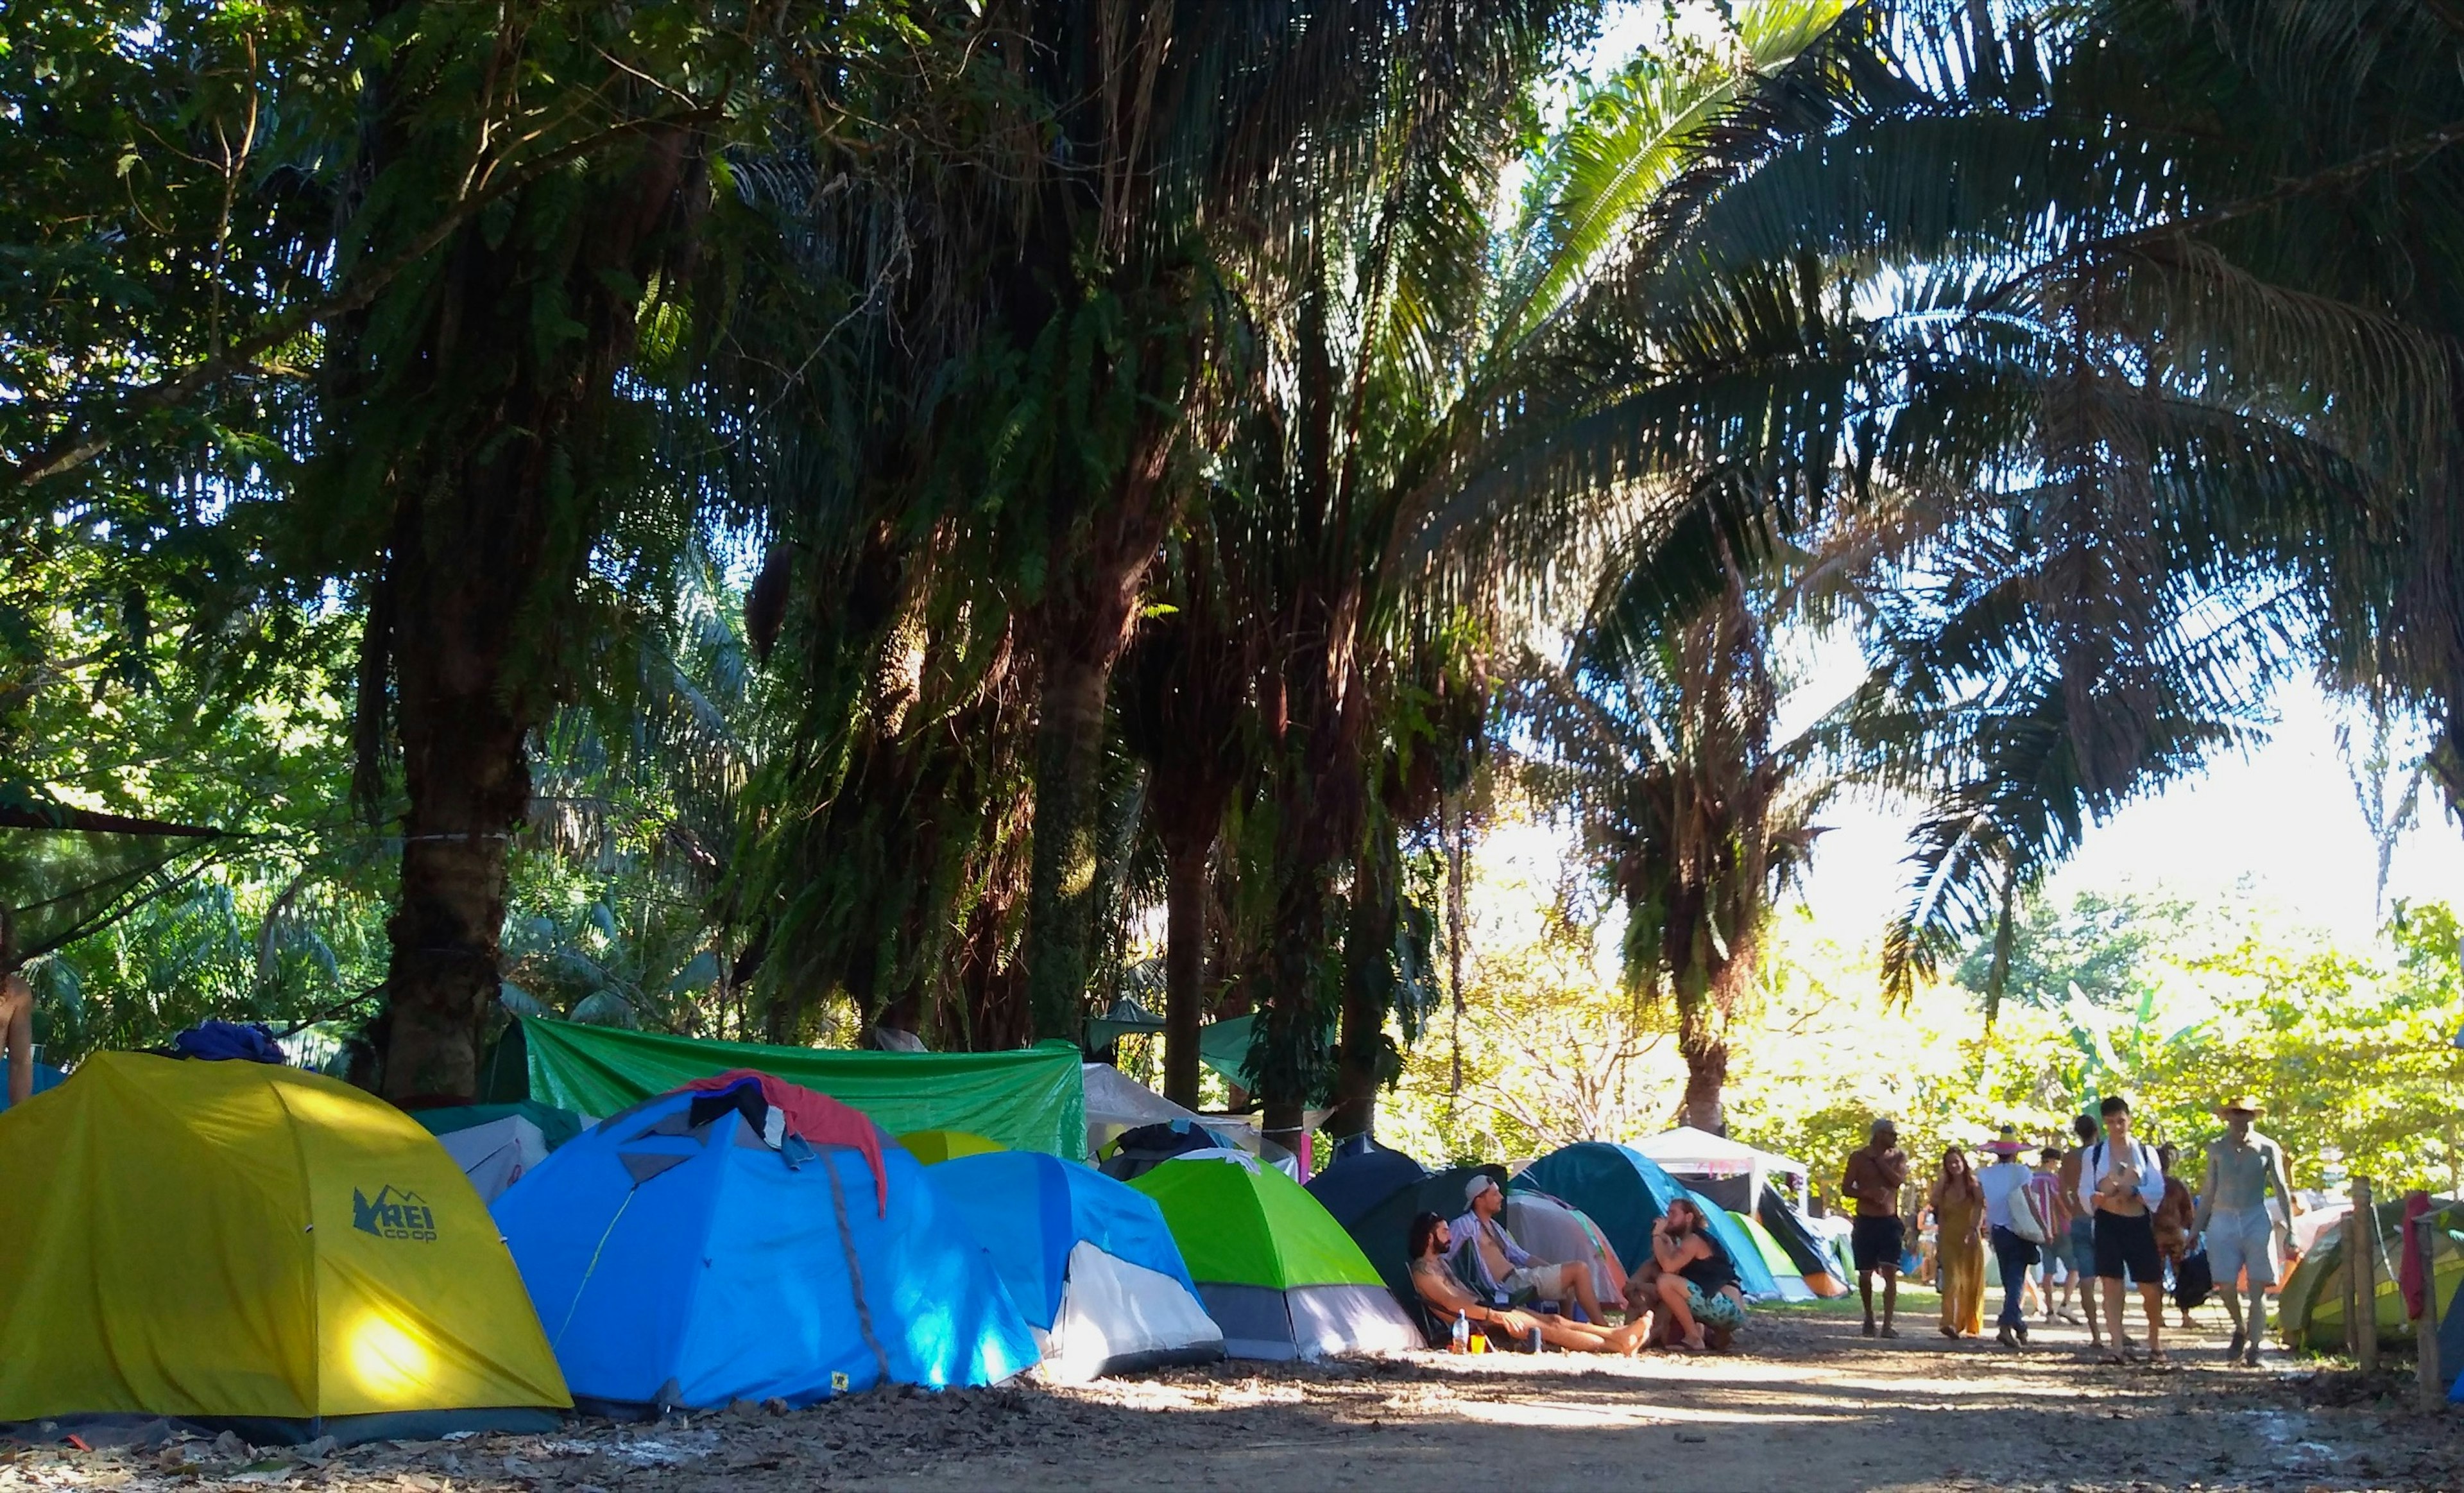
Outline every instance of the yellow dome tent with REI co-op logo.
<svg viewBox="0 0 2464 1493">
<path fill-rule="evenodd" d="M 0 1422 L 355 1441 L 572 1404 L 478 1192 L 350 1084 L 106 1052 L 0 1114 Z"/>
</svg>

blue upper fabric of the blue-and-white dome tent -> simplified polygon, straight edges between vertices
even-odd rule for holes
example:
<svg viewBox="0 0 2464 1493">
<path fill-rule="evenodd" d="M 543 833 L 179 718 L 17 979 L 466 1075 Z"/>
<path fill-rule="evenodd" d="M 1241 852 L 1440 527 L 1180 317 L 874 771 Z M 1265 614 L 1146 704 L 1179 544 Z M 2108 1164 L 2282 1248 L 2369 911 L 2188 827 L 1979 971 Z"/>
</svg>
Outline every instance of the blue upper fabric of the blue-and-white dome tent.
<svg viewBox="0 0 2464 1493">
<path fill-rule="evenodd" d="M 1037 1328 L 1050 1330 L 1062 1308 L 1069 1252 L 1079 1239 L 1170 1276 L 1198 1298 L 1163 1210 L 1129 1183 L 1035 1151 L 958 1155 L 936 1165 L 931 1180 L 983 1242 L 1010 1301 Z"/>
</svg>

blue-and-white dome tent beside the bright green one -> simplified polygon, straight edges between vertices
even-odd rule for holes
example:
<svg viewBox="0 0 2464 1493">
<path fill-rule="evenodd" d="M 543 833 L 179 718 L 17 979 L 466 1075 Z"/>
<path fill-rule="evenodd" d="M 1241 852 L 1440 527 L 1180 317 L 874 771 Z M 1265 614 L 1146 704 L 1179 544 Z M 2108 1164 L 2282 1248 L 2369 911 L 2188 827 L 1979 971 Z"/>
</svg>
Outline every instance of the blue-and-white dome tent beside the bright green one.
<svg viewBox="0 0 2464 1493">
<path fill-rule="evenodd" d="M 1146 1192 L 1035 1151 L 951 1158 L 934 1185 L 1035 1328 L 1045 1377 L 1082 1382 L 1225 1355 L 1222 1328 Z"/>
</svg>

